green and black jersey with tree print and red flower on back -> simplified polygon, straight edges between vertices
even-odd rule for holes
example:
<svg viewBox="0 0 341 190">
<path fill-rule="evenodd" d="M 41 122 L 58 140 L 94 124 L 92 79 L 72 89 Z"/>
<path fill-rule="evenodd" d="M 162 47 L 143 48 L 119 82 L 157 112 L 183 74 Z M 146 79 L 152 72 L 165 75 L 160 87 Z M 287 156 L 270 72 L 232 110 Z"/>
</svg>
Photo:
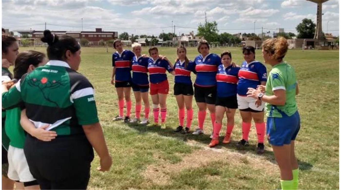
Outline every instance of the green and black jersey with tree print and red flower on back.
<svg viewBox="0 0 341 190">
<path fill-rule="evenodd" d="M 58 135 L 84 134 L 82 125 L 99 121 L 92 85 L 64 61 L 49 61 L 2 94 L 4 108 L 20 102 L 35 127 L 49 125 Z"/>
</svg>

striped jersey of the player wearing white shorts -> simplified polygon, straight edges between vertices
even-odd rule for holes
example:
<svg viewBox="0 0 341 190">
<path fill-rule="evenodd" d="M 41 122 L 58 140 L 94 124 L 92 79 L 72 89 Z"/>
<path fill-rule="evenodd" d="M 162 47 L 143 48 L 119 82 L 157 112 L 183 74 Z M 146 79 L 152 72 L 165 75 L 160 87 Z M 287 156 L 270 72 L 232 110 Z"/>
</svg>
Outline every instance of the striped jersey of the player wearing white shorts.
<svg viewBox="0 0 341 190">
<path fill-rule="evenodd" d="M 266 82 L 266 67 L 259 61 L 247 63 L 243 61 L 239 73 L 237 92 L 240 96 L 247 96 L 248 88 L 257 88 L 262 81 Z"/>
</svg>

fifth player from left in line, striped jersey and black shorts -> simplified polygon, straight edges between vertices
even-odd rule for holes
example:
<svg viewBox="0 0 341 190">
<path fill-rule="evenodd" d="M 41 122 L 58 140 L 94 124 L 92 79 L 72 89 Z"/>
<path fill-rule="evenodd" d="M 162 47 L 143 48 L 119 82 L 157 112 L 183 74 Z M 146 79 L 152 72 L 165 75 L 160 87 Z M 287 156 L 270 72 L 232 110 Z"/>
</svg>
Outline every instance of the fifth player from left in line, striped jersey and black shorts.
<svg viewBox="0 0 341 190">
<path fill-rule="evenodd" d="M 212 128 L 214 127 L 216 95 L 217 95 L 217 68 L 221 65 L 220 57 L 217 54 L 209 53 L 210 46 L 208 42 L 202 40 L 198 43 L 198 55 L 194 59 L 195 71 L 197 72 L 194 83 L 194 97 L 199 107 L 198 128 L 192 133 L 199 135 L 204 133 L 204 121 L 206 117 L 206 108 L 210 111 Z"/>
</svg>

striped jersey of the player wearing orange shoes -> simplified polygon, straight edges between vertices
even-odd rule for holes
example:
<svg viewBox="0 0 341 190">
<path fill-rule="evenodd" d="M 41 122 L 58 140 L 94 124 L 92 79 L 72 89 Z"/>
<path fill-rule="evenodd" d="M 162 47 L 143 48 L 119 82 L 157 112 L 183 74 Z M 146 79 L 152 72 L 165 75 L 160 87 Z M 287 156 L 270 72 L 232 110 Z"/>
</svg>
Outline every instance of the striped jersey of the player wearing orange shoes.
<svg viewBox="0 0 341 190">
<path fill-rule="evenodd" d="M 219 65 L 216 75 L 218 97 L 229 97 L 237 94 L 239 70 L 239 67 L 233 67 L 233 65 L 226 68 L 223 64 Z"/>
</svg>

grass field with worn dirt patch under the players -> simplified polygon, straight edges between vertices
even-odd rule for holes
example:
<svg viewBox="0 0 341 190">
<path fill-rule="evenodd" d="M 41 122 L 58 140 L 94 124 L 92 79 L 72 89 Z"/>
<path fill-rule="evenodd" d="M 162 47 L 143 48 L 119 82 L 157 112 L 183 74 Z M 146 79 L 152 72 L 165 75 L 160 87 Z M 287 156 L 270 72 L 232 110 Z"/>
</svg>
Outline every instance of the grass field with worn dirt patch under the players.
<svg viewBox="0 0 341 190">
<path fill-rule="evenodd" d="M 19 51 L 25 49 L 29 48 L 20 48 Z M 45 52 L 45 48 L 37 50 Z M 223 50 L 211 49 L 210 53 L 220 55 Z M 232 52 L 233 61 L 240 65 L 241 49 L 228 50 Z M 96 170 L 99 158 L 95 156 L 88 189 L 280 188 L 279 169 L 272 148 L 266 142 L 265 154 L 255 154 L 257 137 L 254 125 L 250 132 L 250 146 L 245 150 L 236 149 L 235 145 L 241 138 L 238 111 L 232 143 L 228 145 L 207 148 L 212 132 L 209 114 L 205 120 L 204 135 L 173 132 L 178 126 L 178 111 L 173 95 L 174 77 L 170 74 L 166 130 L 112 121 L 118 115 L 116 91 L 110 85 L 113 49 L 109 49 L 109 53 L 105 48 L 85 47 L 81 51 L 79 72 L 95 88 L 100 122 L 113 157 L 110 171 L 101 173 Z M 169 60 L 176 58 L 175 48 L 160 48 L 159 52 Z M 147 53 L 147 48 L 143 48 L 143 53 Z M 193 60 L 197 54 L 196 48 L 188 48 L 189 59 Z M 263 62 L 261 50 L 257 50 L 256 60 Z M 339 51 L 289 50 L 285 60 L 295 68 L 300 87 L 297 103 L 301 130 L 296 139 L 299 189 L 339 189 Z M 269 72 L 271 68 L 266 66 Z M 198 109 L 194 100 L 193 108 L 192 130 L 197 126 Z M 224 126 L 226 119 L 220 141 L 226 130 Z"/>
</svg>

